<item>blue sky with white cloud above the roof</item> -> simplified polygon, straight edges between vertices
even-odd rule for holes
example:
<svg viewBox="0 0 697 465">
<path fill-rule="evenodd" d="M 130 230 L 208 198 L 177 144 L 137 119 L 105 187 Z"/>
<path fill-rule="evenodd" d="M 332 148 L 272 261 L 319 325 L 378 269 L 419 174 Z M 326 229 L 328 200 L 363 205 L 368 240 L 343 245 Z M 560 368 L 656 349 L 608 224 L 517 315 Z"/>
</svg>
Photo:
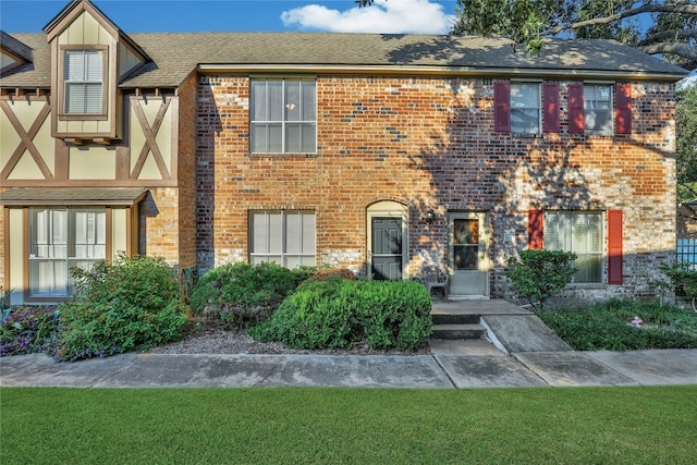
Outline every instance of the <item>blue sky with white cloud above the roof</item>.
<svg viewBox="0 0 697 465">
<path fill-rule="evenodd" d="M 0 0 L 0 28 L 38 33 L 68 0 Z M 445 34 L 455 0 L 94 0 L 123 32 L 354 32 Z"/>
</svg>

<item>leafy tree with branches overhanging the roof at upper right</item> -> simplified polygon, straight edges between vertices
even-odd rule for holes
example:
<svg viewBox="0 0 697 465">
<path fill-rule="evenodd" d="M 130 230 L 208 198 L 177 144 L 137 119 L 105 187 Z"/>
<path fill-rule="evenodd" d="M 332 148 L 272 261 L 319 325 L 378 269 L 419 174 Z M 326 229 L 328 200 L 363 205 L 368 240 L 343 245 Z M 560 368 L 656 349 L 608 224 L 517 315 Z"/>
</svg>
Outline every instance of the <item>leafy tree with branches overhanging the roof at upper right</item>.
<svg viewBox="0 0 697 465">
<path fill-rule="evenodd" d="M 452 34 L 509 37 L 530 52 L 542 49 L 545 37 L 612 38 L 697 69 L 694 0 L 457 0 L 456 15 Z M 646 30 L 641 15 L 652 20 Z"/>
</svg>

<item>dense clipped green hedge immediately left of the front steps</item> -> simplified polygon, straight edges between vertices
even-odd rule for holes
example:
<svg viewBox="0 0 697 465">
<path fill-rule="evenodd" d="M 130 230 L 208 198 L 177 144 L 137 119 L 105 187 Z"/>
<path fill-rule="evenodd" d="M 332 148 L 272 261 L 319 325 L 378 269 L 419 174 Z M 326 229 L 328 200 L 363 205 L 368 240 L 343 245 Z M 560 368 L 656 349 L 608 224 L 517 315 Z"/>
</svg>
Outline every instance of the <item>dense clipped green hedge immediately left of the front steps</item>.
<svg viewBox="0 0 697 465">
<path fill-rule="evenodd" d="M 430 338 L 431 299 L 412 281 L 308 281 L 267 321 L 249 328 L 260 341 L 292 348 L 351 347 L 365 336 L 372 348 L 415 351 Z"/>
</svg>

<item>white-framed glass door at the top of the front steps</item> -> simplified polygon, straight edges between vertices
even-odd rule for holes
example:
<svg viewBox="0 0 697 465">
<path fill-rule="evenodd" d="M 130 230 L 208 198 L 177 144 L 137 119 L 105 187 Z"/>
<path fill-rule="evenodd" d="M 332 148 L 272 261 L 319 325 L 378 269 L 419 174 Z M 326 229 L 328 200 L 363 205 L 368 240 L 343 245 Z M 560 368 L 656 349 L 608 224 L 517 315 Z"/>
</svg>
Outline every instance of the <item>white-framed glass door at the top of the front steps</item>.
<svg viewBox="0 0 697 465">
<path fill-rule="evenodd" d="M 452 212 L 449 227 L 450 295 L 489 295 L 487 213 Z"/>
</svg>

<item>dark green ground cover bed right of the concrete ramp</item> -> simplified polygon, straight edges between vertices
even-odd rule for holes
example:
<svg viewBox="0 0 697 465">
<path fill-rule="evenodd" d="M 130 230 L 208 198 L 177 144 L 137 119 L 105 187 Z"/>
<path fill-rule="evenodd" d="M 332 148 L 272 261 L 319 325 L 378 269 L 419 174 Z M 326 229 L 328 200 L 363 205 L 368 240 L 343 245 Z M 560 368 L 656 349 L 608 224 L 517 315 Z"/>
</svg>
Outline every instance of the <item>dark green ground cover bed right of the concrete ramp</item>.
<svg viewBox="0 0 697 465">
<path fill-rule="evenodd" d="M 697 313 L 670 305 L 613 301 L 537 316 L 576 351 L 697 348 Z M 635 316 L 641 328 L 629 325 Z"/>
</svg>

